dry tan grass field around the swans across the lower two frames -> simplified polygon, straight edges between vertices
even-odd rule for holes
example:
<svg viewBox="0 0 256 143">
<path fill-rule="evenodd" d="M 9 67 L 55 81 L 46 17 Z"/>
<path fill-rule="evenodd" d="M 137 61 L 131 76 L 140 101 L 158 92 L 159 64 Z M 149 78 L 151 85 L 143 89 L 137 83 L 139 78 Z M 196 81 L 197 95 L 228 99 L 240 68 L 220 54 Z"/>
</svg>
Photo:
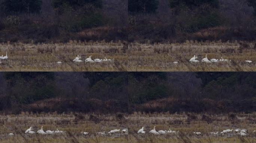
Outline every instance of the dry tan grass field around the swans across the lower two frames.
<svg viewBox="0 0 256 143">
<path fill-rule="evenodd" d="M 0 142 L 1 143 L 255 143 L 256 113 L 228 115 L 204 115 L 200 114 L 144 114 L 134 112 L 131 115 L 96 115 L 90 118 L 88 114 L 56 114 L 56 113 L 24 113 L 20 115 L 0 115 Z M 122 118 L 121 118 L 122 117 Z M 231 118 L 232 117 L 232 118 Z M 95 120 L 95 118 L 97 120 Z M 97 124 L 95 124 L 97 123 Z M 34 131 L 44 130 L 66 131 L 64 134 L 25 134 L 30 126 Z M 144 126 L 146 134 L 137 134 Z M 179 134 L 164 134 L 155 136 L 149 131 L 156 126 L 156 130 L 180 131 Z M 128 134 L 97 135 L 97 132 L 113 129 L 128 128 Z M 234 134 L 213 136 L 211 131 L 245 128 L 248 130 L 246 137 Z M 89 135 L 81 134 L 86 131 Z M 193 134 L 194 131 L 202 135 Z M 14 133 L 14 136 L 8 136 Z"/>
</svg>

